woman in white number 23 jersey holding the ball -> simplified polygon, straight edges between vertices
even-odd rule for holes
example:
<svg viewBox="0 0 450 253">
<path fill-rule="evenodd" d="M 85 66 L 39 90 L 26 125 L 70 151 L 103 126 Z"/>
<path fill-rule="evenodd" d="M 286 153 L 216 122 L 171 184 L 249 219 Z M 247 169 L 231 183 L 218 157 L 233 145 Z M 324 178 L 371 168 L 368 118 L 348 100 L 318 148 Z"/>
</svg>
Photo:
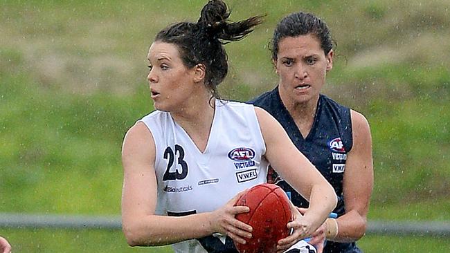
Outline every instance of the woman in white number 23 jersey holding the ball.
<svg viewBox="0 0 450 253">
<path fill-rule="evenodd" d="M 156 111 L 138 120 L 123 143 L 129 245 L 237 252 L 233 241 L 245 243 L 252 227 L 235 219 L 249 208 L 233 205 L 242 191 L 266 181 L 268 162 L 310 201 L 305 216 L 293 207 L 287 226 L 294 232 L 278 242 L 278 252 L 310 236 L 336 206 L 331 185 L 269 113 L 217 98 L 228 72 L 222 45 L 261 23 L 260 17 L 229 23 L 229 14 L 223 1 L 209 1 L 197 23 L 173 24 L 150 46 L 147 79 Z"/>
</svg>

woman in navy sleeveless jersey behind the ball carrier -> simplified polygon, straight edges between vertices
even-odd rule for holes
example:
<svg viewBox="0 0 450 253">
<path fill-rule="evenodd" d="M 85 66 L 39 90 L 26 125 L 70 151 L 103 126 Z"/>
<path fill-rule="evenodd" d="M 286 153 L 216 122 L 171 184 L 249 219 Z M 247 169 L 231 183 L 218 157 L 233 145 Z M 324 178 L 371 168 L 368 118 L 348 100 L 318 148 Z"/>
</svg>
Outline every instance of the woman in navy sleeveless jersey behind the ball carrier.
<svg viewBox="0 0 450 253">
<path fill-rule="evenodd" d="M 333 66 L 330 30 L 321 19 L 304 12 L 282 19 L 271 40 L 278 86 L 251 101 L 276 118 L 307 158 L 332 184 L 338 196 L 334 212 L 318 229 L 311 243 L 326 236 L 324 252 L 361 252 L 357 241 L 366 232 L 372 194 L 372 140 L 361 113 L 323 94 L 325 75 Z M 275 171 L 271 174 L 294 205 L 308 207 Z"/>
</svg>

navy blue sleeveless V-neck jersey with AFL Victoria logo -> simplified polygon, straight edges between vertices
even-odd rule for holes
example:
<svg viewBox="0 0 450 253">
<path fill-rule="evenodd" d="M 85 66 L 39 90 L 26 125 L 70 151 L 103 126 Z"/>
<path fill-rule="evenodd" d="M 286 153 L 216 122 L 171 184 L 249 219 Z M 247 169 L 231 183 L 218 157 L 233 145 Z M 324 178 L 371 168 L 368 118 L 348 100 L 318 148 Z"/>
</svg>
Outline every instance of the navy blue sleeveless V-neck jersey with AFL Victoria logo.
<svg viewBox="0 0 450 253">
<path fill-rule="evenodd" d="M 278 87 L 249 102 L 268 111 L 285 129 L 289 138 L 321 174 L 333 186 L 338 196 L 338 204 L 334 212 L 341 216 L 345 213 L 342 193 L 343 172 L 347 154 L 352 149 L 352 122 L 350 109 L 334 102 L 325 95 L 318 99 L 316 115 L 311 131 L 306 138 L 298 130 L 294 119 L 282 104 Z M 308 207 L 308 201 L 298 194 L 284 180 L 276 180 L 276 172 L 269 174 L 277 185 L 290 195 L 292 203 L 298 207 Z M 355 243 L 327 242 L 325 253 L 360 252 Z"/>
</svg>

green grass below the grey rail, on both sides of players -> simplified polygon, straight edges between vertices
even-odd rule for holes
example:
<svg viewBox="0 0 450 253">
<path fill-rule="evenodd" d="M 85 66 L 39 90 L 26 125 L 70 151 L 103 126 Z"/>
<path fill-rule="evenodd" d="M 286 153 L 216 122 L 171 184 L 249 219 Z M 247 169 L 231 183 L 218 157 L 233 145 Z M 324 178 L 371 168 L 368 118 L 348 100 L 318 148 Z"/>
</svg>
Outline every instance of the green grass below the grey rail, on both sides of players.
<svg viewBox="0 0 450 253">
<path fill-rule="evenodd" d="M 78 252 L 173 252 L 171 247 L 129 247 L 117 230 L 8 229 L 5 234 L 14 252 L 78 253 Z M 365 236 L 359 241 L 366 253 L 449 252 L 448 238 L 421 236 Z"/>
</svg>

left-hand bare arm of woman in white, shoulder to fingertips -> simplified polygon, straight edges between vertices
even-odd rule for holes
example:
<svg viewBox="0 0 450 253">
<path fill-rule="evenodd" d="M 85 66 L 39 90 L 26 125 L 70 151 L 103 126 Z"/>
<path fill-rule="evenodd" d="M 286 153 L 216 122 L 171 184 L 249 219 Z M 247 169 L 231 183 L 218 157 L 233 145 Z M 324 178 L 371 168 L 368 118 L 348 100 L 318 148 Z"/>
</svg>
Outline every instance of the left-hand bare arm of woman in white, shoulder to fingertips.
<svg viewBox="0 0 450 253">
<path fill-rule="evenodd" d="M 249 212 L 248 207 L 233 207 L 239 195 L 214 212 L 183 217 L 154 214 L 157 196 L 155 146 L 152 133 L 142 122 L 125 135 L 122 161 L 122 222 L 129 245 L 167 245 L 215 232 L 228 234 L 240 242 L 243 237 L 251 236 L 251 226 L 234 218 L 237 213 Z"/>
</svg>

